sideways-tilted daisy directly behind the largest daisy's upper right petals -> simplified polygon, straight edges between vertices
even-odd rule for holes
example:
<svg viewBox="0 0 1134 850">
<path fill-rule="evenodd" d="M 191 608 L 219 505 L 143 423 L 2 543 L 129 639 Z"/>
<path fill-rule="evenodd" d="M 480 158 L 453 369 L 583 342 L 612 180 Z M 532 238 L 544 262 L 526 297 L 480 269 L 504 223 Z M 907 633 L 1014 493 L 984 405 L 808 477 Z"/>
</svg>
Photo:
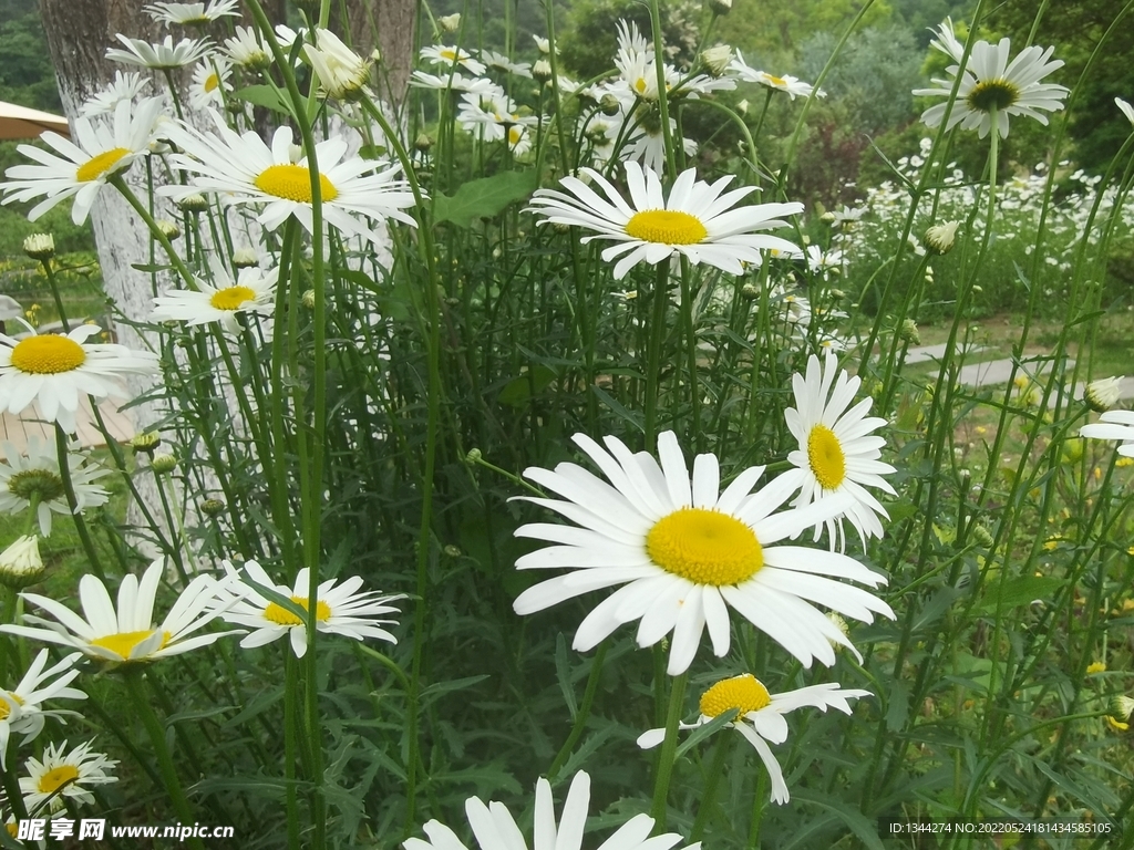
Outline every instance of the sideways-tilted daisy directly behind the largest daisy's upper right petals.
<svg viewBox="0 0 1134 850">
<path fill-rule="evenodd" d="M 787 408 L 784 416 L 799 448 L 788 453 L 788 462 L 796 468 L 784 473 L 782 478 L 793 490 L 799 490 L 792 502 L 796 508 L 836 494 L 850 496 L 853 501 L 845 517 L 865 545 L 870 537 L 882 536 L 878 517 L 887 516 L 886 509 L 865 487 L 879 487 L 894 494 L 894 487 L 881 476 L 895 469 L 878 460 L 886 440 L 872 436 L 871 432 L 886 425 L 886 419 L 868 416 L 873 401 L 868 397 L 847 409 L 861 385 L 861 377 L 850 377 L 839 369 L 838 358 L 831 350 L 826 352 L 822 366 L 812 355 L 807 358 L 806 376 L 792 376 L 796 406 Z M 836 541 L 841 549 L 846 542 L 843 519 L 833 516 L 816 524 L 815 539 L 826 526 L 831 549 Z"/>
</svg>

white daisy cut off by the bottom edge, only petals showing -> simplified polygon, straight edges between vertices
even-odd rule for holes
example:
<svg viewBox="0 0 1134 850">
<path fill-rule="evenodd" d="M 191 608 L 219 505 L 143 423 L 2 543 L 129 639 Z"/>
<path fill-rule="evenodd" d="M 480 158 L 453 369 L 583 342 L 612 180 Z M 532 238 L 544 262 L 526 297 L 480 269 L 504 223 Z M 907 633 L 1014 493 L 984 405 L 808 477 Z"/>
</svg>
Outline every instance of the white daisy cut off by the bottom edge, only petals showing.
<svg viewBox="0 0 1134 850">
<path fill-rule="evenodd" d="M 590 806 L 591 777 L 579 771 L 572 780 L 562 816 L 557 824 L 551 784 L 545 779 L 538 780 L 533 850 L 581 850 Z M 465 801 L 465 815 L 481 850 L 526 850 L 527 841 L 503 804 L 493 800 L 485 806 L 479 797 L 469 797 Z M 675 833 L 651 839 L 653 823 L 649 815 L 635 815 L 602 842 L 599 850 L 669 850 L 682 841 L 682 836 Z M 456 833 L 439 821 L 430 821 L 422 828 L 429 840 L 406 839 L 401 844 L 405 850 L 468 850 Z M 700 847 L 700 843 L 691 844 L 685 850 Z"/>
</svg>

